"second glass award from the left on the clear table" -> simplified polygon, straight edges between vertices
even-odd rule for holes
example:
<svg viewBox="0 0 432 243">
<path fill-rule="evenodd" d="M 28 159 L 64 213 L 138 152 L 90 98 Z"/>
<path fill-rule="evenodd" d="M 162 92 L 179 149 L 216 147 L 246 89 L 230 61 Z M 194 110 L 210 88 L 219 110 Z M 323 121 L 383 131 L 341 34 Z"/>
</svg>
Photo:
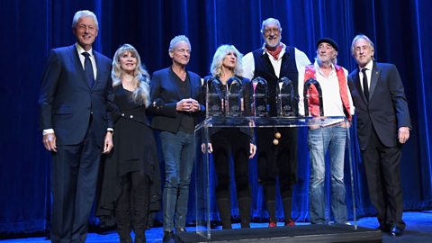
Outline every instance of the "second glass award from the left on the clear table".
<svg viewBox="0 0 432 243">
<path fill-rule="evenodd" d="M 229 86 L 226 99 L 227 116 L 240 117 L 245 110 L 243 107 L 243 85 L 237 76 L 230 77 L 227 83 Z"/>
</svg>

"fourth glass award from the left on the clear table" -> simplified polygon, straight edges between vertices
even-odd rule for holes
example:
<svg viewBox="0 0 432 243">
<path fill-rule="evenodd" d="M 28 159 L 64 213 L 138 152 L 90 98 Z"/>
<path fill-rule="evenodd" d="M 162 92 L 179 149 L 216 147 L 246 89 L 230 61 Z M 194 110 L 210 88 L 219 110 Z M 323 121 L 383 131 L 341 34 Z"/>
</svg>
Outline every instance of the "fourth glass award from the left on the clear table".
<svg viewBox="0 0 432 243">
<path fill-rule="evenodd" d="M 288 117 L 295 116 L 295 94 L 293 82 L 287 77 L 279 79 L 279 84 L 276 86 L 276 110 L 277 116 Z"/>
</svg>

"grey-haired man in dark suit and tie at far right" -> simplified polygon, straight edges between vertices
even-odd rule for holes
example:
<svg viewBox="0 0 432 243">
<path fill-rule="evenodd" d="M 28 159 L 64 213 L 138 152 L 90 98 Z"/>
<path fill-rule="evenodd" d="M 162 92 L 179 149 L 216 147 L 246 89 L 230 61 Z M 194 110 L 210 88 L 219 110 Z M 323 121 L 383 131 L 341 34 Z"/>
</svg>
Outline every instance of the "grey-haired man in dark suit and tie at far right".
<svg viewBox="0 0 432 243">
<path fill-rule="evenodd" d="M 410 138 L 410 112 L 398 69 L 374 61 L 374 43 L 357 35 L 351 52 L 358 68 L 348 76 L 357 114 L 357 136 L 379 229 L 400 236 L 401 145 Z"/>
</svg>

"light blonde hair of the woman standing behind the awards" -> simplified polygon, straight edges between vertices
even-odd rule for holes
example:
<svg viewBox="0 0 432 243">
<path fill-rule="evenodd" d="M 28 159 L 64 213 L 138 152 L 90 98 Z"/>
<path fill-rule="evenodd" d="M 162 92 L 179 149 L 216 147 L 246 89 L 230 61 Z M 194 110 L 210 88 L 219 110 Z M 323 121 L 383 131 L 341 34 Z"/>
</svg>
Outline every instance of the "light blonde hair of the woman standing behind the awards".
<svg viewBox="0 0 432 243">
<path fill-rule="evenodd" d="M 223 58 L 225 58 L 231 51 L 233 51 L 237 56 L 237 64 L 236 67 L 234 67 L 234 75 L 243 75 L 243 65 L 241 63 L 243 54 L 241 54 L 233 45 L 221 45 L 218 49 L 216 49 L 216 52 L 213 56 L 213 61 L 211 62 L 210 72 L 212 76 L 220 76 Z"/>
</svg>

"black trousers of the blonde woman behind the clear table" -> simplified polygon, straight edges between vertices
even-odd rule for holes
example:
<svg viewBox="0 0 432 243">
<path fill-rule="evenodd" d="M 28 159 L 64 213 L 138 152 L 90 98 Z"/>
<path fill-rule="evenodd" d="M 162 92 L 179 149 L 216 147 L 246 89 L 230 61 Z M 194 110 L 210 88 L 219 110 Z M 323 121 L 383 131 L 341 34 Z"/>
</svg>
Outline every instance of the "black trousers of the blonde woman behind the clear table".
<svg viewBox="0 0 432 243">
<path fill-rule="evenodd" d="M 234 161 L 234 175 L 237 187 L 237 197 L 250 198 L 248 160 L 249 138 L 237 128 L 224 128 L 211 135 L 213 159 L 218 184 L 216 186 L 217 199 L 229 199 L 229 162 L 232 155 Z"/>
</svg>

